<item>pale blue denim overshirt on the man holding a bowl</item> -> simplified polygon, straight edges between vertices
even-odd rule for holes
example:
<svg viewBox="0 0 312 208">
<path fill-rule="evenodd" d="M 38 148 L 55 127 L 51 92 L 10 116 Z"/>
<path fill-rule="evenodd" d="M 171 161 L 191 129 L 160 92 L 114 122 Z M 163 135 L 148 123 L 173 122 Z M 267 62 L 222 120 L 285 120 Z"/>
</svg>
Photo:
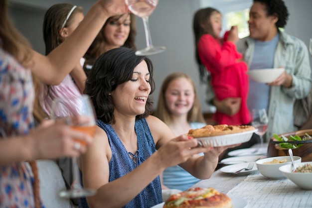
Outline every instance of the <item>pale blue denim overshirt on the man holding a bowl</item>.
<svg viewBox="0 0 312 208">
<path fill-rule="evenodd" d="M 281 134 L 297 130 L 294 126 L 294 103 L 297 99 L 305 98 L 311 90 L 311 67 L 308 48 L 300 39 L 280 32 L 280 40 L 275 52 L 274 68 L 284 67 L 293 77 L 292 87 L 271 87 L 269 101 L 269 127 L 266 138 L 274 133 Z M 237 50 L 244 54 L 244 60 L 251 63 L 254 54 L 255 40 L 245 37 L 237 42 Z M 214 98 L 208 86 L 207 101 Z"/>
</svg>

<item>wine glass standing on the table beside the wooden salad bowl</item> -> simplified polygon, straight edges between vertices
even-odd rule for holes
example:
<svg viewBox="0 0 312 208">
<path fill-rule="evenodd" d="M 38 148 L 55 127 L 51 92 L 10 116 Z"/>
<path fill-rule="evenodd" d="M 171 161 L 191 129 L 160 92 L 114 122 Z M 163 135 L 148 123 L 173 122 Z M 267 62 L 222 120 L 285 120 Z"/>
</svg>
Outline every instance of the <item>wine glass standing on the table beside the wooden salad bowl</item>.
<svg viewBox="0 0 312 208">
<path fill-rule="evenodd" d="M 260 136 L 260 147 L 263 146 L 263 135 L 267 131 L 268 123 L 269 119 L 265 108 L 251 110 L 251 124 L 257 129 L 257 134 Z"/>
</svg>

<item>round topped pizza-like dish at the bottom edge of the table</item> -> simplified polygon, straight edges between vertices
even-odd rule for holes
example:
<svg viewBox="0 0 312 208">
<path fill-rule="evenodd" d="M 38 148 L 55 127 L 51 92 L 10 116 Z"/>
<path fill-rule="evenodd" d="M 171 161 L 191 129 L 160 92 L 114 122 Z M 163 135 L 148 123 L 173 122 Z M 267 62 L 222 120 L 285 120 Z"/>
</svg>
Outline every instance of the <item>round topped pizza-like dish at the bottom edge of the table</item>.
<svg viewBox="0 0 312 208">
<path fill-rule="evenodd" d="M 213 188 L 197 187 L 171 195 L 163 208 L 232 208 L 232 201 Z"/>
</svg>

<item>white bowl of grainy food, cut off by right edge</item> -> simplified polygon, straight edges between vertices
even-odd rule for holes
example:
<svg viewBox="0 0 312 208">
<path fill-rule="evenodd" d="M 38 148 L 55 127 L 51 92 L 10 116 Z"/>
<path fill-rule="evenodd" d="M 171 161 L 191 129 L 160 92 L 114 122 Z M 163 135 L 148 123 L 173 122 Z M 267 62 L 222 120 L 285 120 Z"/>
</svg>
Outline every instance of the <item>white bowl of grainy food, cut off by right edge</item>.
<svg viewBox="0 0 312 208">
<path fill-rule="evenodd" d="M 312 162 L 295 163 L 296 168 Z M 281 173 L 284 174 L 289 180 L 302 189 L 312 190 L 312 173 L 293 173 L 293 165 L 283 165 L 280 168 Z"/>
</svg>

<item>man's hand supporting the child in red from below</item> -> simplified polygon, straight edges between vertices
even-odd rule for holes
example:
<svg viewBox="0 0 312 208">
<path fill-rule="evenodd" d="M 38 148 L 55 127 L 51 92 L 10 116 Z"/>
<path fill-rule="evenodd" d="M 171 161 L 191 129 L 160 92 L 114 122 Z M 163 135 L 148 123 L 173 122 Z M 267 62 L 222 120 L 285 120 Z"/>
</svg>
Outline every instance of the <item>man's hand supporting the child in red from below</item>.
<svg viewBox="0 0 312 208">
<path fill-rule="evenodd" d="M 241 98 L 226 98 L 222 101 L 214 98 L 213 104 L 216 106 L 217 111 L 232 116 L 239 111 L 241 107 Z"/>
</svg>

